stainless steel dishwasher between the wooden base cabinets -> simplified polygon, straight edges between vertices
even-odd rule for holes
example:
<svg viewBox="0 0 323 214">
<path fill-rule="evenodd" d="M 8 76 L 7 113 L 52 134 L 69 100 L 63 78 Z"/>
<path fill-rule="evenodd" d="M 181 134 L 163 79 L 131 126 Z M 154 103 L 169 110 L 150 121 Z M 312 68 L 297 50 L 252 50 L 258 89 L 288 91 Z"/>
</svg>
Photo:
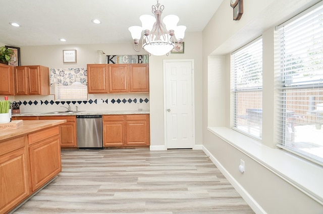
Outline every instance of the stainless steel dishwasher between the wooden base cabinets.
<svg viewBox="0 0 323 214">
<path fill-rule="evenodd" d="M 77 115 L 77 147 L 103 149 L 102 115 Z"/>
</svg>

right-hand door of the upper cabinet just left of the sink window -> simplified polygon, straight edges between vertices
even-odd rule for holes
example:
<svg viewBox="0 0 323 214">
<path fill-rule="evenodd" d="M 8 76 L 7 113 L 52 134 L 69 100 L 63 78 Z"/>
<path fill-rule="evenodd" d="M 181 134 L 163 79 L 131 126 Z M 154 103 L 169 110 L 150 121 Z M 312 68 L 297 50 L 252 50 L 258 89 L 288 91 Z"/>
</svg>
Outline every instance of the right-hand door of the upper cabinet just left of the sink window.
<svg viewBox="0 0 323 214">
<path fill-rule="evenodd" d="M 27 68 L 28 94 L 40 94 L 39 66 Z"/>
</svg>

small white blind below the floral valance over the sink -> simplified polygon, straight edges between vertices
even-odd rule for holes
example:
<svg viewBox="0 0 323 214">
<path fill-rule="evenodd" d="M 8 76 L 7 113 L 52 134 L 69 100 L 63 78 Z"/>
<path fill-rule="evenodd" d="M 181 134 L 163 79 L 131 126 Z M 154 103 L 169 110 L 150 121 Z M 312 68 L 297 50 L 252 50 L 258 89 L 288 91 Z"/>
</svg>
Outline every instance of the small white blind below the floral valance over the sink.
<svg viewBox="0 0 323 214">
<path fill-rule="evenodd" d="M 56 100 L 87 100 L 87 86 L 80 82 L 72 85 L 55 84 Z"/>
</svg>

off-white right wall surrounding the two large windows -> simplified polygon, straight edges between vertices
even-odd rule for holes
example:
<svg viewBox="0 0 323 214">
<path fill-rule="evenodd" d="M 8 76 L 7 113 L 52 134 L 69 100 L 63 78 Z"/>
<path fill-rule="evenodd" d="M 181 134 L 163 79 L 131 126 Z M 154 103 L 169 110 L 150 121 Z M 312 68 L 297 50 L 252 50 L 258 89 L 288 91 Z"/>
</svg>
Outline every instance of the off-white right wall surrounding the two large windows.
<svg viewBox="0 0 323 214">
<path fill-rule="evenodd" d="M 240 21 L 232 20 L 232 8 L 227 1 L 220 6 L 203 31 L 203 146 L 218 167 L 245 191 L 253 208 L 267 213 L 321 213 L 323 206 L 295 188 L 245 151 L 229 144 L 207 130 L 210 126 L 231 128 L 230 113 L 230 53 L 258 36 L 263 38 L 263 140 L 275 149 L 274 125 L 274 29 L 304 9 L 319 1 L 309 0 L 249 0 L 244 1 Z M 283 151 L 282 151 L 283 152 Z M 240 158 L 247 171 L 238 171 Z M 275 160 L 275 157 L 272 157 Z M 289 163 L 285 163 L 289 164 Z M 295 168 L 294 168 L 295 167 Z M 297 166 L 293 166 L 296 170 Z M 321 168 L 318 168 L 321 170 Z M 301 174 L 306 173 L 299 172 Z M 320 184 L 317 184 L 320 185 Z M 254 201 L 253 201 L 254 200 Z"/>
</svg>

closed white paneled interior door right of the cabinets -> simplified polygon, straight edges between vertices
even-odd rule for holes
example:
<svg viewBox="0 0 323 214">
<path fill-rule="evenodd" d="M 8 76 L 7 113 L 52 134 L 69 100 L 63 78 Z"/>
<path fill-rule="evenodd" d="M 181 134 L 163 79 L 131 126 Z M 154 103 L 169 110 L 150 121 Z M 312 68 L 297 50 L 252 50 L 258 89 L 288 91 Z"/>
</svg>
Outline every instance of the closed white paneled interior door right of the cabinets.
<svg viewBox="0 0 323 214">
<path fill-rule="evenodd" d="M 193 148 L 193 62 L 165 61 L 167 148 Z"/>
</svg>

